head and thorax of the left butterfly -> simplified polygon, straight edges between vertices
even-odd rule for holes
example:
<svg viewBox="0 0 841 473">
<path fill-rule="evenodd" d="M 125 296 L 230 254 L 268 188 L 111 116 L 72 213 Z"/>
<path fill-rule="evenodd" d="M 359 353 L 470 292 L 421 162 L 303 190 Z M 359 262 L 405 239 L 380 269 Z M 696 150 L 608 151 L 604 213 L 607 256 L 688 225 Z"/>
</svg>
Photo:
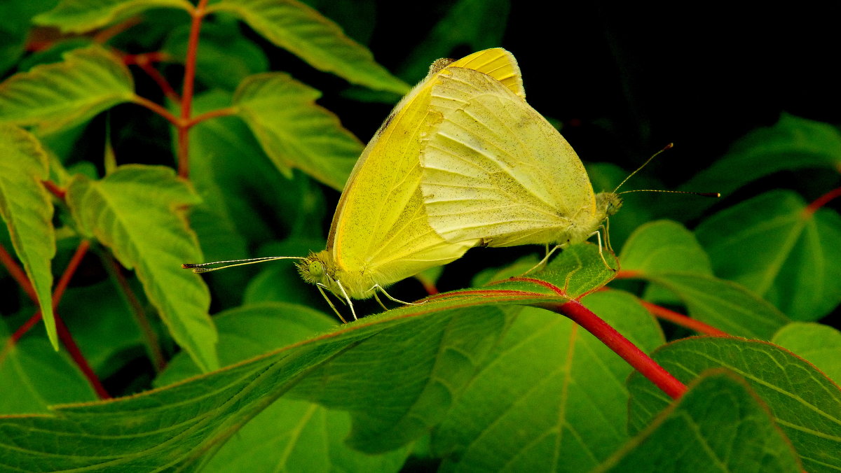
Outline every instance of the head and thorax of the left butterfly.
<svg viewBox="0 0 841 473">
<path fill-rule="evenodd" d="M 375 292 L 376 283 L 372 275 L 366 274 L 365 271 L 341 269 L 328 250 L 310 253 L 298 263 L 298 272 L 304 281 L 322 286 L 342 299 L 345 297 L 344 293 L 352 299 L 367 299 L 373 297 Z"/>
</svg>

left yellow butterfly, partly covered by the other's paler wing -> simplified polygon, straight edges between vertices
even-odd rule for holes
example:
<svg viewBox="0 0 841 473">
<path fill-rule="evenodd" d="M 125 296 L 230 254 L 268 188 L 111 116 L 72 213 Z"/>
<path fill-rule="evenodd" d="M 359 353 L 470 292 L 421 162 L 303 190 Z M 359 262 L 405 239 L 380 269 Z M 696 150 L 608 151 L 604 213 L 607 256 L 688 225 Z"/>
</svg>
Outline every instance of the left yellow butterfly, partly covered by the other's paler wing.
<svg viewBox="0 0 841 473">
<path fill-rule="evenodd" d="M 220 263 L 238 263 L 223 266 L 230 267 L 299 259 L 304 281 L 318 286 L 334 311 L 324 289 L 346 301 L 353 318 L 357 316 L 351 299 L 377 297 L 383 292 L 402 302 L 389 296 L 384 287 L 456 260 L 480 242 L 476 237 L 444 239 L 436 234 L 427 221 L 421 194 L 421 130 L 429 119 L 432 84 L 454 68 L 477 71 L 512 96 L 525 96 L 520 68 L 506 50 L 483 50 L 455 61 L 436 60 L 426 78 L 397 104 L 362 151 L 341 193 L 326 250 L 306 258 L 276 256 L 185 267 L 205 272 L 222 269 L 207 267 Z"/>
</svg>

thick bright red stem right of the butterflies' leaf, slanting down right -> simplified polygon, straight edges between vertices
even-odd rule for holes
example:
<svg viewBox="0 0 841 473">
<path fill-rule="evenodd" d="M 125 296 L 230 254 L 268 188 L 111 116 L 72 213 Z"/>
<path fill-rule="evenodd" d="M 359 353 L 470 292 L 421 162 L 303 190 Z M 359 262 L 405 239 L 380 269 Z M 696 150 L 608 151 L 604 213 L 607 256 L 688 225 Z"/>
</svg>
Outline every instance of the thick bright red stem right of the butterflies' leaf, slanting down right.
<svg viewBox="0 0 841 473">
<path fill-rule="evenodd" d="M 595 313 L 592 313 L 590 309 L 581 305 L 581 302 L 552 302 L 543 304 L 542 307 L 560 313 L 563 316 L 569 317 L 573 322 L 578 323 L 590 332 L 590 334 L 593 334 L 595 338 L 600 339 L 601 343 L 606 344 L 616 355 L 626 360 L 629 365 L 639 371 L 641 375 L 648 378 L 649 381 L 653 382 L 655 386 L 659 387 L 669 397 L 677 399 L 686 392 L 686 386 L 682 382 L 675 379 L 669 371 L 665 371 L 656 361 L 643 353 L 643 350 L 638 349 L 636 345 L 632 344 L 619 332 L 616 332 L 615 328 L 611 327 L 599 318 L 599 316 L 595 315 Z"/>
</svg>

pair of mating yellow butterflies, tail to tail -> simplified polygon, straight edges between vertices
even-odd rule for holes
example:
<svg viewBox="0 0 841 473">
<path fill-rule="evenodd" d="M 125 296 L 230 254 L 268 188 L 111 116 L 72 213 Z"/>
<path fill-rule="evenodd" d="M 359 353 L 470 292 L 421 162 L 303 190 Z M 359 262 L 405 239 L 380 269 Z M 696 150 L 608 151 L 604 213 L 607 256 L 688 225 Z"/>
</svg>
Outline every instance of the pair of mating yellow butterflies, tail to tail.
<svg viewBox="0 0 841 473">
<path fill-rule="evenodd" d="M 457 260 L 473 246 L 564 248 L 588 239 L 621 200 L 615 192 L 594 194 L 578 155 L 525 96 L 506 50 L 436 60 L 362 151 L 326 250 L 184 267 L 206 272 L 299 259 L 301 276 L 333 310 L 324 289 L 357 318 L 352 298 L 383 292 L 402 302 L 383 286 Z"/>
</svg>

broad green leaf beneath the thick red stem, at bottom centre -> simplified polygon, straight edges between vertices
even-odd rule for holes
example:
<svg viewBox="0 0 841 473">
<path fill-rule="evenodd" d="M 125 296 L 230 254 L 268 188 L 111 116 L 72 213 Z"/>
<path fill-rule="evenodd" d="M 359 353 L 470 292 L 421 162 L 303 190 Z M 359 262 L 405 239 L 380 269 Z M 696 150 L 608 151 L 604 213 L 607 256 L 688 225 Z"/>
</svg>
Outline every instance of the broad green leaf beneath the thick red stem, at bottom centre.
<svg viewBox="0 0 841 473">
<path fill-rule="evenodd" d="M 651 314 L 624 292 L 588 308 L 640 349 L 663 344 Z M 586 471 L 629 438 L 630 365 L 567 318 L 526 307 L 436 429 L 443 470 Z"/>
</svg>

